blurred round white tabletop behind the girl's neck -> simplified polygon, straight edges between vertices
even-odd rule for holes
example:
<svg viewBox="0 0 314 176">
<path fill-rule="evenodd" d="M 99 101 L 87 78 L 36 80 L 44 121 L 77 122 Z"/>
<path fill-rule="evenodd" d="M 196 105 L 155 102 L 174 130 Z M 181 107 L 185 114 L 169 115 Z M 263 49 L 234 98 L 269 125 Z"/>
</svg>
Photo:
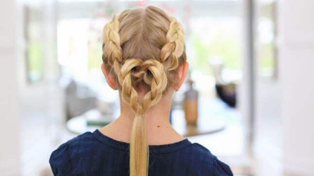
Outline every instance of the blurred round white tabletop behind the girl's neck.
<svg viewBox="0 0 314 176">
<path fill-rule="evenodd" d="M 173 128 L 184 137 L 215 133 L 226 127 L 226 121 L 223 118 L 210 116 L 209 114 L 200 114 L 197 119 L 197 126 L 186 124 L 183 110 L 174 109 L 171 114 Z M 86 131 L 92 132 L 95 129 L 102 128 L 106 123 L 104 123 L 103 126 L 87 125 L 87 118 L 97 119 L 101 115 L 101 112 L 97 109 L 89 110 L 82 115 L 68 120 L 66 124 L 67 129 L 75 134 L 82 134 Z M 119 115 L 116 115 L 116 117 L 118 116 Z M 112 117 L 108 117 L 108 119 L 111 119 L 111 121 L 114 120 Z"/>
</svg>

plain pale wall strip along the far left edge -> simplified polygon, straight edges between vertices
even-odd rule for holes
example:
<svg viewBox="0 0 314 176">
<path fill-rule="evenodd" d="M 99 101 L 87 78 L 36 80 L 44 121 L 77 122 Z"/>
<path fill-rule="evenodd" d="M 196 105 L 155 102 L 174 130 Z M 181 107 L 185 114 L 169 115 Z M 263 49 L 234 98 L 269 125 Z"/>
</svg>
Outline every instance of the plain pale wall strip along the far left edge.
<svg viewBox="0 0 314 176">
<path fill-rule="evenodd" d="M 0 1 L 0 175 L 18 175 L 19 95 L 17 90 L 16 4 Z"/>
</svg>

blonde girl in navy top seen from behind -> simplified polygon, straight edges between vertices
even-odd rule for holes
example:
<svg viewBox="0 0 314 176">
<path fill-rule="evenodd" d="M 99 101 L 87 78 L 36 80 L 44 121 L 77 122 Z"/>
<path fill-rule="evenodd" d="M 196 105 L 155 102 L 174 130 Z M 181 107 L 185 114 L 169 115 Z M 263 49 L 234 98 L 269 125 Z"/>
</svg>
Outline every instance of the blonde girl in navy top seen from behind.
<svg viewBox="0 0 314 176">
<path fill-rule="evenodd" d="M 119 90 L 121 115 L 52 152 L 55 176 L 232 176 L 207 148 L 169 123 L 171 99 L 183 83 L 184 30 L 161 9 L 125 10 L 104 27 L 102 71 Z"/>
</svg>

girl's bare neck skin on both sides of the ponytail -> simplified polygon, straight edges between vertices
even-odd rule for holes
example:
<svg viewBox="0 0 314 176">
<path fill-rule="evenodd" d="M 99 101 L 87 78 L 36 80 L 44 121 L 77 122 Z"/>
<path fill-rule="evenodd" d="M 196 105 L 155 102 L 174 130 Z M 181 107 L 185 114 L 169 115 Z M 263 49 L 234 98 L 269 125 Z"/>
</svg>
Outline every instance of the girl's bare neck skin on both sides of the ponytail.
<svg viewBox="0 0 314 176">
<path fill-rule="evenodd" d="M 169 115 L 171 97 L 165 95 L 155 106 L 150 107 L 145 114 L 147 140 L 149 145 L 172 144 L 184 140 L 172 128 Z M 104 135 L 122 141 L 130 142 L 131 129 L 135 113 L 129 105 L 121 101 L 121 115 L 109 125 L 100 129 Z"/>
</svg>

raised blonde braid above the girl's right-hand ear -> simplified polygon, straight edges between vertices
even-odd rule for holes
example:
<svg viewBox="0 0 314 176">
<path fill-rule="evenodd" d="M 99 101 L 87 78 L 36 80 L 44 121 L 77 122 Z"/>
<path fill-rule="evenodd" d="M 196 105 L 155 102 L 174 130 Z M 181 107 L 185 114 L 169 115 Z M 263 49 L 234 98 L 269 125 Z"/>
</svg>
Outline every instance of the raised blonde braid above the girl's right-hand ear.
<svg viewBox="0 0 314 176">
<path fill-rule="evenodd" d="M 160 61 L 168 65 L 169 71 L 176 69 L 178 58 L 184 51 L 184 30 L 175 17 L 171 18 L 169 31 L 167 32 L 167 44 L 160 51 Z M 164 63 L 166 62 L 166 63 Z"/>
</svg>

